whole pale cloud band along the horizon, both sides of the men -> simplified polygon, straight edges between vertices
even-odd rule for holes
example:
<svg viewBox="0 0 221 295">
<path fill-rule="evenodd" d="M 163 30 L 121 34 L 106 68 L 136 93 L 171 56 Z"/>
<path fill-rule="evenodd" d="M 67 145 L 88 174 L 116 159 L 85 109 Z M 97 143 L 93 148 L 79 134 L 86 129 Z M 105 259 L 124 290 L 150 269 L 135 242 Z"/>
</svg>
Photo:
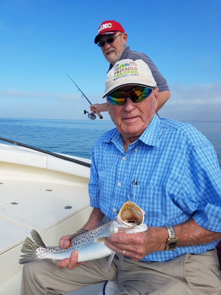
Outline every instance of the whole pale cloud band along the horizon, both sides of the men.
<svg viewBox="0 0 221 295">
<path fill-rule="evenodd" d="M 221 121 L 221 83 L 170 85 L 171 97 L 159 110 L 160 117 L 178 121 Z M 0 90 L 0 117 L 86 119 L 84 109 L 90 104 L 81 93 L 28 92 Z M 103 103 L 102 93 L 88 97 L 92 103 Z M 107 112 L 102 114 L 110 119 Z"/>
</svg>

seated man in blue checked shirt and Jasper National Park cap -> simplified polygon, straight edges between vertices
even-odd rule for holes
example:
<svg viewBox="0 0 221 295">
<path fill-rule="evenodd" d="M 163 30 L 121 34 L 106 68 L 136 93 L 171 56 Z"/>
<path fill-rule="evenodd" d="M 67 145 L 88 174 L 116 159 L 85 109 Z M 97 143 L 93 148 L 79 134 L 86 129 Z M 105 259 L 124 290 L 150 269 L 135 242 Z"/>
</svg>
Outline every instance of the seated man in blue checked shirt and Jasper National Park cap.
<svg viewBox="0 0 221 295">
<path fill-rule="evenodd" d="M 159 89 L 142 60 L 121 60 L 109 71 L 103 97 L 116 128 L 92 148 L 88 184 L 94 208 L 85 230 L 114 219 L 131 200 L 145 210 L 144 232 L 110 235 L 116 257 L 77 263 L 72 252 L 24 265 L 21 294 L 63 294 L 118 280 L 119 295 L 220 295 L 215 246 L 221 238 L 221 171 L 214 148 L 189 124 L 159 119 Z M 134 185 L 136 179 L 136 185 Z M 67 248 L 70 236 L 62 237 Z"/>
</svg>

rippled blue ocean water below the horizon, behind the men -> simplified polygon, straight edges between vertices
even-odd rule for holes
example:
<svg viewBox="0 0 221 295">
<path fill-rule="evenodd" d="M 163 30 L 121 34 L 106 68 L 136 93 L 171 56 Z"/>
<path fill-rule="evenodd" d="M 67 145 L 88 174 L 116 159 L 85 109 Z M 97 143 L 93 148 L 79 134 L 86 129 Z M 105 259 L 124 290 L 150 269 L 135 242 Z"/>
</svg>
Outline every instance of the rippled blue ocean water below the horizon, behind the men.
<svg viewBox="0 0 221 295">
<path fill-rule="evenodd" d="M 186 121 L 212 143 L 221 167 L 221 122 Z M 90 159 L 91 148 L 112 121 L 60 119 L 0 119 L 0 137 L 55 153 Z M 1 143 L 7 143 L 1 141 Z"/>
</svg>

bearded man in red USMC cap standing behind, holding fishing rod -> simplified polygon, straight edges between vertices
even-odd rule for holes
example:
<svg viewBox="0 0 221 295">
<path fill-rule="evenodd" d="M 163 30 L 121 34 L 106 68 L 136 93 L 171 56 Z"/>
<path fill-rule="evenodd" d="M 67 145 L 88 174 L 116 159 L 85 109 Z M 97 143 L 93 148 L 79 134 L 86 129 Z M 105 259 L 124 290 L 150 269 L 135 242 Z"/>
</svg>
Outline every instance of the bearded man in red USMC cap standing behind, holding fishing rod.
<svg viewBox="0 0 221 295">
<path fill-rule="evenodd" d="M 127 34 L 121 24 L 114 20 L 106 20 L 102 22 L 94 42 L 95 44 L 98 43 L 104 57 L 110 63 L 108 71 L 110 71 L 116 62 L 122 59 L 144 60 L 144 62 L 149 66 L 157 87 L 159 88 L 159 100 L 156 107 L 156 112 L 158 112 L 170 97 L 166 79 L 164 79 L 152 60 L 146 54 L 132 51 L 129 46 L 126 47 Z M 107 103 L 92 104 L 90 106 L 92 112 L 94 112 L 94 108 L 97 109 L 98 112 L 106 112 L 108 110 Z"/>
</svg>

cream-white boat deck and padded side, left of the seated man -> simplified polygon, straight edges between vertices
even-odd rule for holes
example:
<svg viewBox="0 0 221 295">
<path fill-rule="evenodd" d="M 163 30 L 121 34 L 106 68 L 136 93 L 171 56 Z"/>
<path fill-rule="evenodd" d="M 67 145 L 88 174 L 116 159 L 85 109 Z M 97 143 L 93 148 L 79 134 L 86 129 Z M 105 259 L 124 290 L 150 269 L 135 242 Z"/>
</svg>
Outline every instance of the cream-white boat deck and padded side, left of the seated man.
<svg viewBox="0 0 221 295">
<path fill-rule="evenodd" d="M 46 246 L 56 246 L 85 224 L 92 210 L 89 177 L 89 167 L 0 144 L 0 295 L 20 292 L 18 260 L 33 228 Z M 12 290 L 5 293 L 4 286 Z"/>
</svg>

